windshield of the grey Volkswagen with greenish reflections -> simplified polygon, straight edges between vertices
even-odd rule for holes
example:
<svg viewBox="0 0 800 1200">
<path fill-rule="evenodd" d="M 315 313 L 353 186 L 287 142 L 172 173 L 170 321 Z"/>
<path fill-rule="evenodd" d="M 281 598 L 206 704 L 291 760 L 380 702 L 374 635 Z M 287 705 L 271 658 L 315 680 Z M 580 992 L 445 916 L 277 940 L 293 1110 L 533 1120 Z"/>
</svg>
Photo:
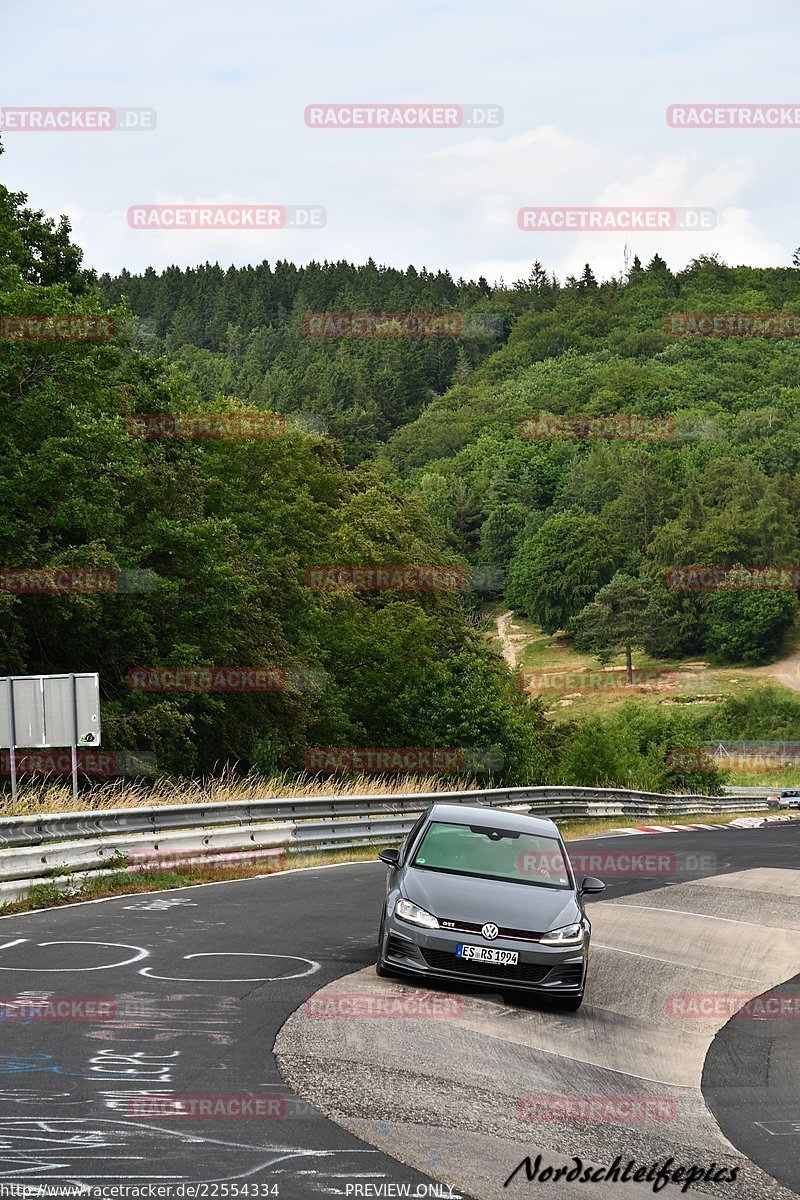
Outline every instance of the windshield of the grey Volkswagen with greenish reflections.
<svg viewBox="0 0 800 1200">
<path fill-rule="evenodd" d="M 483 824 L 432 821 L 414 857 L 425 871 L 571 888 L 569 864 L 557 838 Z"/>
</svg>

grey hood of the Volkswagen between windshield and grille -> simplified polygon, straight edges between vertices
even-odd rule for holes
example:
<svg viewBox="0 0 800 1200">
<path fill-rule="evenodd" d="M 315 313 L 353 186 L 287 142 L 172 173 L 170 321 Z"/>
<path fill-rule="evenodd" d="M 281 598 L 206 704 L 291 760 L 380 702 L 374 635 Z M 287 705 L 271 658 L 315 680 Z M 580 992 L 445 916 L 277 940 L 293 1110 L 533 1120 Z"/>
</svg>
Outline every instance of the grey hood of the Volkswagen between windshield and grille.
<svg viewBox="0 0 800 1200">
<path fill-rule="evenodd" d="M 446 875 L 413 866 L 405 870 L 401 890 L 413 904 L 444 920 L 479 925 L 491 920 L 505 929 L 528 929 L 539 934 L 571 925 L 582 916 L 572 890 Z"/>
</svg>

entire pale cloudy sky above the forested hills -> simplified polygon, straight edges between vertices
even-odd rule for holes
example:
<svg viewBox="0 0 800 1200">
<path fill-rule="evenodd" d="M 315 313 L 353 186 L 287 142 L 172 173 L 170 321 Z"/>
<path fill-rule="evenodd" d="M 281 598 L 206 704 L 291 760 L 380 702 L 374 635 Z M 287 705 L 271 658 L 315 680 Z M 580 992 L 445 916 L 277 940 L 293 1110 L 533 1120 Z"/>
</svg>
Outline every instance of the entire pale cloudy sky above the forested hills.
<svg viewBox="0 0 800 1200">
<path fill-rule="evenodd" d="M 0 106 L 154 108 L 150 132 L 2 133 L 0 178 L 86 264 L 345 258 L 491 282 L 619 274 L 625 241 L 788 264 L 800 127 L 680 130 L 669 104 L 796 103 L 796 0 L 37 0 L 2 5 Z M 309 128 L 315 103 L 497 104 L 499 127 Z M 321 205 L 324 228 L 132 229 L 137 204 Z M 703 206 L 705 233 L 523 232 L 528 205 Z"/>
</svg>

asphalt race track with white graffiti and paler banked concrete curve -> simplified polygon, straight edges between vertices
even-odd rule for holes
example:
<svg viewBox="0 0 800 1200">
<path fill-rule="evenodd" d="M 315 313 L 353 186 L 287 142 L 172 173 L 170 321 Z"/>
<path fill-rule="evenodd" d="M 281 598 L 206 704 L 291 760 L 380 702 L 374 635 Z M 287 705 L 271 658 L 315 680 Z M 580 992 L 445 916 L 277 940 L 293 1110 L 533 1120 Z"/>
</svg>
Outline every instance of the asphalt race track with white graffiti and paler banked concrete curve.
<svg viewBox="0 0 800 1200">
<path fill-rule="evenodd" d="M 570 850 L 657 850 L 675 863 L 606 875 L 576 1014 L 443 990 L 463 1001 L 453 1019 L 315 1019 L 305 1001 L 320 990 L 421 991 L 372 970 L 379 863 L 2 918 L 0 1184 L 227 1183 L 301 1200 L 402 1184 L 434 1195 L 439 1183 L 479 1198 L 616 1200 L 652 1184 L 503 1182 L 525 1154 L 552 1165 L 672 1154 L 739 1166 L 735 1182 L 690 1194 L 800 1194 L 800 1020 L 666 1009 L 674 995 L 800 992 L 800 822 Z M 104 1001 L 112 1015 L 22 1019 L 25 998 L 46 996 Z M 270 1116 L 174 1112 L 179 1097 L 253 1096 L 273 1097 Z M 531 1121 L 519 1108 L 530 1097 L 656 1097 L 673 1112 Z"/>
</svg>

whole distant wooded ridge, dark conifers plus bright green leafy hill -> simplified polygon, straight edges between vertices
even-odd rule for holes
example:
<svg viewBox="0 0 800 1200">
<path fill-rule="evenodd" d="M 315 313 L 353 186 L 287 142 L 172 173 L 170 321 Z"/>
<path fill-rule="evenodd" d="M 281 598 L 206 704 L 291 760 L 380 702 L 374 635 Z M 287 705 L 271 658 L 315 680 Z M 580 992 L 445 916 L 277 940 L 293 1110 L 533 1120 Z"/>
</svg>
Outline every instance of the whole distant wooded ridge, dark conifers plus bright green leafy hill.
<svg viewBox="0 0 800 1200">
<path fill-rule="evenodd" d="M 234 391 L 324 416 L 351 461 L 374 457 L 396 491 L 423 497 L 452 550 L 487 578 L 505 572 L 507 601 L 548 631 L 575 632 L 616 572 L 636 582 L 644 644 L 662 656 L 764 661 L 794 620 L 792 589 L 686 594 L 666 572 L 800 562 L 796 338 L 673 337 L 664 322 L 793 312 L 798 269 L 705 258 L 673 275 L 656 257 L 625 281 L 599 286 L 587 266 L 560 286 L 536 263 L 527 281 L 491 288 L 374 263 L 264 263 L 102 283 L 206 398 Z M 309 312 L 450 308 L 492 316 L 503 344 L 303 331 Z M 662 419 L 667 432 L 521 426 L 541 413 Z"/>
</svg>

